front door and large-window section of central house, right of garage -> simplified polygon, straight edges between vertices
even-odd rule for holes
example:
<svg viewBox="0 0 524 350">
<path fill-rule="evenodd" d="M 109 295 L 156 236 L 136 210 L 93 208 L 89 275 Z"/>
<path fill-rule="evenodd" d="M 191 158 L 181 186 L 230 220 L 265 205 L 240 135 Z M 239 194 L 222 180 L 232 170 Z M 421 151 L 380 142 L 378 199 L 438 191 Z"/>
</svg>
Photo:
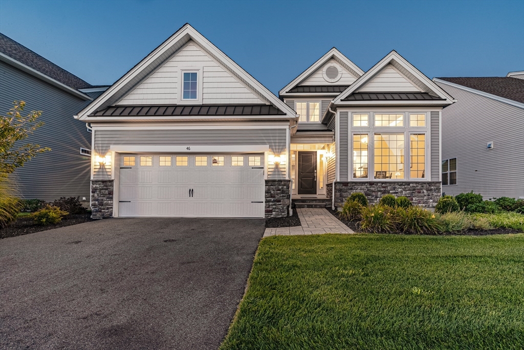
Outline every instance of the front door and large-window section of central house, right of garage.
<svg viewBox="0 0 524 350">
<path fill-rule="evenodd" d="M 340 208 L 364 192 L 371 202 L 395 194 L 435 206 L 440 114 L 453 98 L 396 51 L 364 72 L 333 48 L 280 98 L 300 115 L 291 136 L 297 202 L 327 195 Z"/>
</svg>

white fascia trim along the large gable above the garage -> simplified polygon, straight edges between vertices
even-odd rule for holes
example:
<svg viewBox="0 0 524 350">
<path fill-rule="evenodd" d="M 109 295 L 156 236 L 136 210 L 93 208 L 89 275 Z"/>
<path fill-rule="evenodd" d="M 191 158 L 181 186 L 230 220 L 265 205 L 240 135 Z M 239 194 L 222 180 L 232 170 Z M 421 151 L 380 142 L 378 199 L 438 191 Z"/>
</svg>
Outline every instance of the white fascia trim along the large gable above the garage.
<svg viewBox="0 0 524 350">
<path fill-rule="evenodd" d="M 102 93 L 93 103 L 85 107 L 78 116 L 75 116 L 77 119 L 84 120 L 91 113 L 96 111 L 104 102 L 106 102 L 110 96 L 119 89 L 122 89 L 130 80 L 135 78 L 145 67 L 148 67 L 149 64 L 157 60 L 163 53 L 165 53 L 170 47 L 176 44 L 178 41 L 187 38 L 185 42 L 189 40 L 195 41 L 199 46 L 201 46 L 206 51 L 211 52 L 215 57 L 222 62 L 222 64 L 232 72 L 234 72 L 239 78 L 244 79 L 250 85 L 252 85 L 257 93 L 261 96 L 264 96 L 270 103 L 280 108 L 290 117 L 294 117 L 296 113 L 285 103 L 283 103 L 275 94 L 270 92 L 264 85 L 257 81 L 253 76 L 247 73 L 242 67 L 240 67 L 236 62 L 222 52 L 219 48 L 213 45 L 208 39 L 196 31 L 191 25 L 185 24 L 180 28 L 176 33 L 174 33 L 169 39 L 164 41 L 158 48 L 153 52 L 148 54 L 143 60 L 141 60 L 135 67 L 133 67 L 129 72 L 124 74 L 122 78 L 116 81 L 111 87 L 109 87 L 104 93 Z"/>
</svg>

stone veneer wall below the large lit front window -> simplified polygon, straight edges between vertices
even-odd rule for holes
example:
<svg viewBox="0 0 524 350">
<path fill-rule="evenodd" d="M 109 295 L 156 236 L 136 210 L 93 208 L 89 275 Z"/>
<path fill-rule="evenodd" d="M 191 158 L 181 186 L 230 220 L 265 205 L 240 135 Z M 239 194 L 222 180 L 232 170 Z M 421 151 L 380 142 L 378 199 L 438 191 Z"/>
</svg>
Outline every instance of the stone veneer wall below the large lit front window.
<svg viewBox="0 0 524 350">
<path fill-rule="evenodd" d="M 441 196 L 441 182 L 335 182 L 335 206 L 341 207 L 353 192 L 363 192 L 370 204 L 392 194 L 406 196 L 414 205 L 434 208 Z"/>
</svg>

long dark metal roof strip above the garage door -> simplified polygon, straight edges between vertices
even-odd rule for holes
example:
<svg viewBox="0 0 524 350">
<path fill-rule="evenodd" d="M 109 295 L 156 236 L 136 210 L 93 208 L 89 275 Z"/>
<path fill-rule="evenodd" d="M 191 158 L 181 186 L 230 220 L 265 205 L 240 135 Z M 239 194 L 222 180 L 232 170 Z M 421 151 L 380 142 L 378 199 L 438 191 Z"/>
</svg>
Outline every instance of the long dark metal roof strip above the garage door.
<svg viewBox="0 0 524 350">
<path fill-rule="evenodd" d="M 112 106 L 91 116 L 286 115 L 269 105 Z"/>
</svg>

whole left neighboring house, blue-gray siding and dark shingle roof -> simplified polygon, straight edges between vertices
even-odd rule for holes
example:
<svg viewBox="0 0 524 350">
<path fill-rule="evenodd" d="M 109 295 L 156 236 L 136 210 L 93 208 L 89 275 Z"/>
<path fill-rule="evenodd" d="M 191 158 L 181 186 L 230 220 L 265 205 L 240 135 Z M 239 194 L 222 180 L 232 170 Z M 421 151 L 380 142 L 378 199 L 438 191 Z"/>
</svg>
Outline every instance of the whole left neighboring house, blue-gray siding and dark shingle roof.
<svg viewBox="0 0 524 350">
<path fill-rule="evenodd" d="M 42 111 L 38 120 L 45 124 L 23 142 L 51 148 L 14 172 L 23 198 L 89 200 L 91 132 L 73 115 L 105 88 L 0 34 L 0 113 L 6 115 L 15 100 L 27 103 L 25 114 Z"/>
</svg>

